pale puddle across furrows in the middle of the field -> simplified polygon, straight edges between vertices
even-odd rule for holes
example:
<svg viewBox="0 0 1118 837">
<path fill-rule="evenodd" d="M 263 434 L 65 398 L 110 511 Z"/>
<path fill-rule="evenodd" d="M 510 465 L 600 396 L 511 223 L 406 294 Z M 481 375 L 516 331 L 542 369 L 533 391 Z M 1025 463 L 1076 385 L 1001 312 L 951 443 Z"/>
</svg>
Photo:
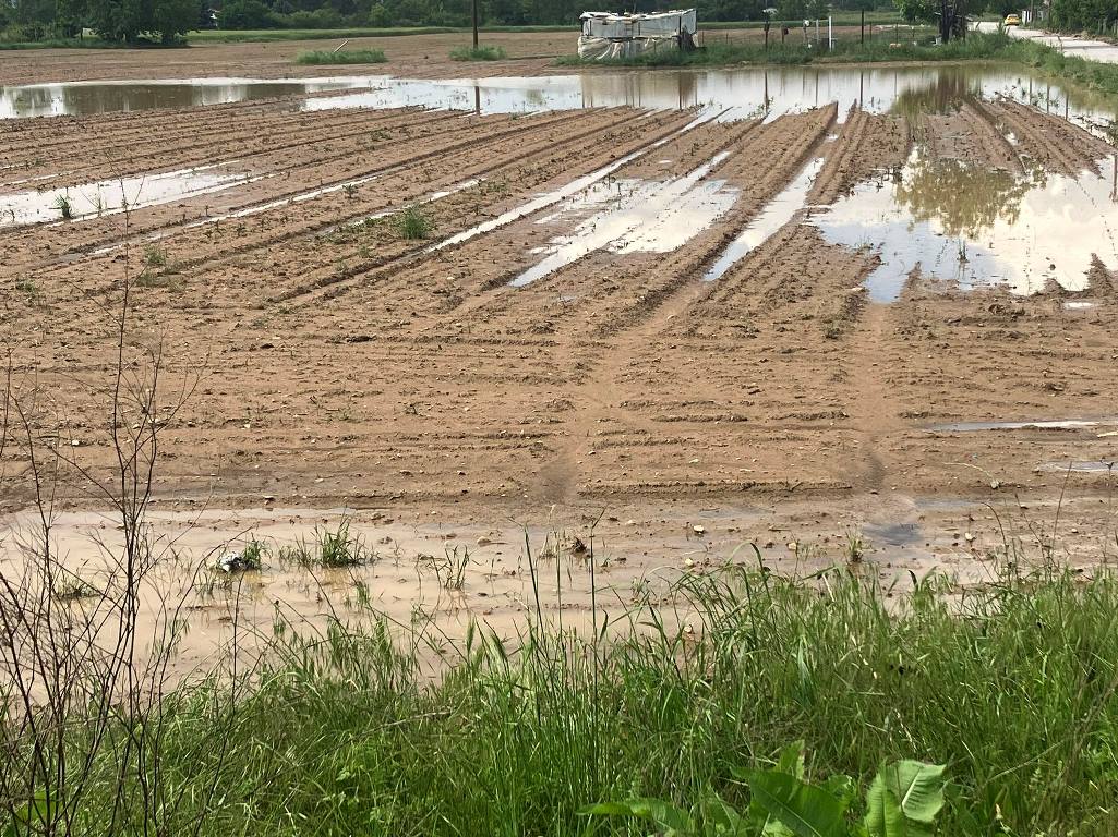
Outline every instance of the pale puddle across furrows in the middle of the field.
<svg viewBox="0 0 1118 837">
<path fill-rule="evenodd" d="M 555 222 L 570 215 L 593 211 L 567 236 L 552 239 L 540 263 L 510 284 L 523 287 L 595 250 L 615 254 L 670 253 L 724 215 L 738 190 L 723 180 L 704 180 L 729 152 L 722 152 L 688 172 L 666 181 L 620 180 L 598 182 L 568 199 L 559 210 L 538 223 Z"/>
</svg>

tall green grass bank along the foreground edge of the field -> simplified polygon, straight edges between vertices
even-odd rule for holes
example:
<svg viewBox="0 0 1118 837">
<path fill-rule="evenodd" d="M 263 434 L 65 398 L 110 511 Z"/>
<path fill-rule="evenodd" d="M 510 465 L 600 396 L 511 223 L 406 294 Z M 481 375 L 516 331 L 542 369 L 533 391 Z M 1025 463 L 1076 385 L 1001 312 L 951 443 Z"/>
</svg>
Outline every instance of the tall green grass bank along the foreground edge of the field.
<svg viewBox="0 0 1118 837">
<path fill-rule="evenodd" d="M 168 834 L 646 834 L 579 811 L 711 793 L 746 811 L 748 771 L 803 740 L 805 781 L 833 792 L 850 776 L 861 797 L 897 759 L 946 764 L 941 835 L 1110 837 L 1118 582 L 1007 567 L 988 584 L 937 577 L 904 597 L 873 572 L 727 565 L 648 590 L 628 612 L 612 606 L 582 638 L 531 610 L 518 635 L 473 628 L 461 643 L 424 618 L 296 636 L 277 617 L 250 685 L 181 687 L 139 746 L 159 764 L 149 782 L 176 800 L 161 808 Z M 432 678 L 424 660 L 439 657 Z M 67 732 L 72 757 L 83 730 Z M 83 833 L 143 830 L 132 782 L 110 825 L 126 758 L 100 751 Z"/>
</svg>

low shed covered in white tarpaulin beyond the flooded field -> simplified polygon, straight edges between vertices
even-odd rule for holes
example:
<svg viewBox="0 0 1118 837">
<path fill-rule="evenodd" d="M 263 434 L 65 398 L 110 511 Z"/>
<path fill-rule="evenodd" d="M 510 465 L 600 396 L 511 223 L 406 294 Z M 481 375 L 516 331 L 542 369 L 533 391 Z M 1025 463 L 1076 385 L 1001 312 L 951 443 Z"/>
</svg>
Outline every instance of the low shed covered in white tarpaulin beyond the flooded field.
<svg viewBox="0 0 1118 837">
<path fill-rule="evenodd" d="M 582 21 L 582 34 L 578 38 L 579 58 L 628 58 L 659 48 L 686 47 L 694 42 L 694 9 L 651 15 L 585 11 L 579 19 Z"/>
</svg>

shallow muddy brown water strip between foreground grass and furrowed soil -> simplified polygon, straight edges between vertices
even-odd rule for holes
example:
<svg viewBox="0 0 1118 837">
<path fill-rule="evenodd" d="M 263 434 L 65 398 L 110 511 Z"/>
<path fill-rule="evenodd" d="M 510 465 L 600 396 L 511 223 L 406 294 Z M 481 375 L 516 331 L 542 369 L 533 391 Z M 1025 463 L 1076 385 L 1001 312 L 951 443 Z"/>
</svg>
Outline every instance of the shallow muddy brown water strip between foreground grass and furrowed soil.
<svg viewBox="0 0 1118 837">
<path fill-rule="evenodd" d="M 357 629 L 383 618 L 401 641 L 424 638 L 417 653 L 435 673 L 461 654 L 471 625 L 515 649 L 529 624 L 539 620 L 552 629 L 588 631 L 608 622 L 614 635 L 642 630 L 642 607 L 652 603 L 667 625 L 698 629 L 702 615 L 673 592 L 684 573 L 761 562 L 780 573 L 808 576 L 844 565 L 846 538 L 855 532 L 864 536 L 859 571 L 884 587 L 903 588 L 913 578 L 910 571 L 946 572 L 966 583 L 996 576 L 983 554 L 1013 525 L 1010 508 L 998 506 L 995 516 L 979 504 L 941 500 L 930 512 L 894 497 L 884 512 L 875 502 L 836 505 L 834 517 L 808 504 L 779 513 L 707 505 L 664 517 L 634 510 L 635 519 L 610 515 L 597 524 L 587 517 L 566 523 L 541 517 L 525 525 L 511 520 L 452 525 L 420 508 L 152 510 L 145 522 L 154 569 L 142 584 L 140 635 L 146 640 L 162 620 L 181 619 L 184 630 L 171 666 L 190 676 L 227 660 L 235 637 L 238 654 L 255 658 L 272 641 L 277 621 L 311 637 L 334 620 Z M 1069 514 L 1074 520 L 1074 512 Z M 40 542 L 39 526 L 35 512 L 0 519 L 0 574 L 21 577 Z M 285 548 L 313 545 L 316 533 L 341 526 L 367 559 L 360 565 L 307 568 L 282 555 Z M 266 546 L 262 570 L 218 569 L 250 540 Z M 123 530 L 112 512 L 57 513 L 50 542 L 56 560 L 92 595 L 111 577 Z M 455 565 L 461 584 L 447 581 Z M 76 598 L 66 606 L 93 603 Z"/>
</svg>

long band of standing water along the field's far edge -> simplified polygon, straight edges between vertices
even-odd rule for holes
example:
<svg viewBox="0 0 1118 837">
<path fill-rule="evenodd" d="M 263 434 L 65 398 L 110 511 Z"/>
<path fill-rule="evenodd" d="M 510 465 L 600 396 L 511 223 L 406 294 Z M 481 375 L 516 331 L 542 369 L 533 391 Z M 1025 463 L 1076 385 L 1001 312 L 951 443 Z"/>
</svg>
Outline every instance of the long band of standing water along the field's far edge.
<svg viewBox="0 0 1118 837">
<path fill-rule="evenodd" d="M 313 97 L 347 89 L 354 92 Z M 1105 120 L 1118 114 L 1112 98 L 1065 91 L 1034 79 L 1020 68 L 986 66 L 732 68 L 483 79 L 376 75 L 78 82 L 2 87 L 0 118 L 187 107 L 299 94 L 312 96 L 302 104 L 312 111 L 423 105 L 479 113 L 531 113 L 623 105 L 646 110 L 709 105 L 727 111 L 723 118 L 761 112 L 769 120 L 832 102 L 839 104 L 840 118 L 855 103 L 874 113 L 940 111 L 951 107 L 963 94 L 980 94 L 1005 95 L 1078 118 Z"/>
</svg>

